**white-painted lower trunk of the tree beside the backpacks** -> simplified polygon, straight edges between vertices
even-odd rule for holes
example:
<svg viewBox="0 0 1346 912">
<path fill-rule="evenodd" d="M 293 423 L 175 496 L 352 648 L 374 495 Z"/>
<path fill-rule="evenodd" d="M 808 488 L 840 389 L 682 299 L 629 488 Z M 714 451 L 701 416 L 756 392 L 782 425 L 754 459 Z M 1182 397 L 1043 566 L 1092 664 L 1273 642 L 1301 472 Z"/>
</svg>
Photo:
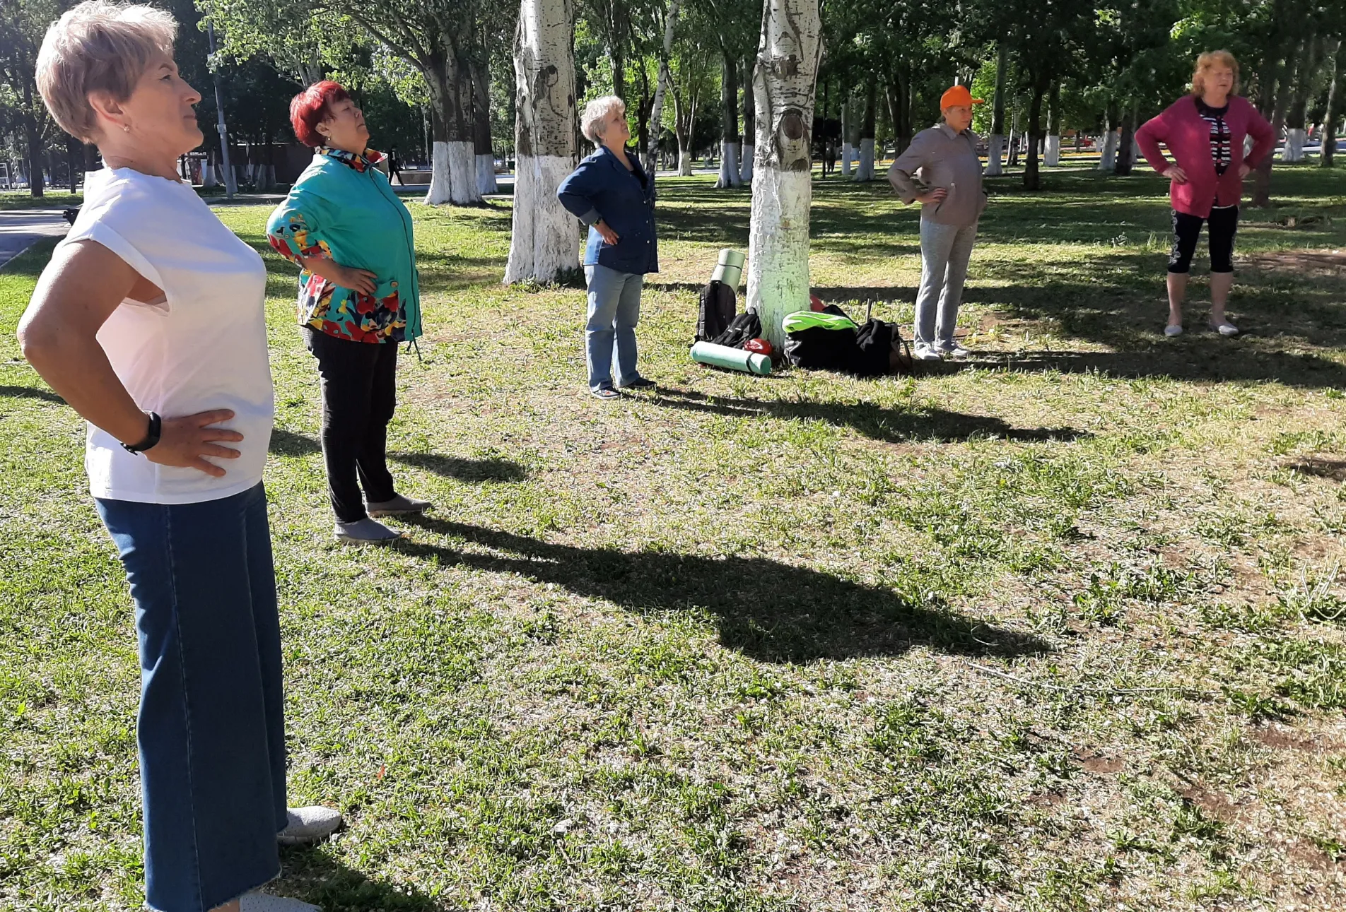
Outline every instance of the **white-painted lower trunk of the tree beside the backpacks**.
<svg viewBox="0 0 1346 912">
<path fill-rule="evenodd" d="M 756 311 L 762 335 L 777 350 L 785 346 L 781 320 L 809 307 L 812 178 L 808 171 L 766 167 L 752 179 L 747 305 Z"/>
</svg>

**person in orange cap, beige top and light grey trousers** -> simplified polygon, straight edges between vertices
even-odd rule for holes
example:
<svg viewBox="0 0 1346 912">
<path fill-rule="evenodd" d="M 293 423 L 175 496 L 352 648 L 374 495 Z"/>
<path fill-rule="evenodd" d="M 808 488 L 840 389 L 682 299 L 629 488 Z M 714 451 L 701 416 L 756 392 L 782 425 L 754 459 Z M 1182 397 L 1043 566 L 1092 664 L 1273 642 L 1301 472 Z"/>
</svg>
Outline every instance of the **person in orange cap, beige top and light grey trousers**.
<svg viewBox="0 0 1346 912">
<path fill-rule="evenodd" d="M 940 97 L 944 122 L 917 133 L 888 171 L 888 183 L 903 203 L 921 202 L 921 291 L 913 331 L 914 354 L 921 360 L 968 354 L 954 342 L 953 330 L 977 219 L 987 207 L 977 135 L 970 129 L 972 106 L 980 104 L 966 86 L 945 91 Z"/>
</svg>

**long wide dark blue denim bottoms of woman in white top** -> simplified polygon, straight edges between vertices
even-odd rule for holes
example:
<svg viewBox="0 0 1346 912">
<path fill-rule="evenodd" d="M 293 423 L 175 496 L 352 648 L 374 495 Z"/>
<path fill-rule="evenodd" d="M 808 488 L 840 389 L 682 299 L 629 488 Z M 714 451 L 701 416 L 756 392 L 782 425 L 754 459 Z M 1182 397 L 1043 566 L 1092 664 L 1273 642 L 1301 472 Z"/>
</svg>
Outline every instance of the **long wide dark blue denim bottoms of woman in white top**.
<svg viewBox="0 0 1346 912">
<path fill-rule="evenodd" d="M 280 873 L 285 721 L 267 492 L 97 503 L 136 601 L 145 901 L 206 912 Z"/>
</svg>

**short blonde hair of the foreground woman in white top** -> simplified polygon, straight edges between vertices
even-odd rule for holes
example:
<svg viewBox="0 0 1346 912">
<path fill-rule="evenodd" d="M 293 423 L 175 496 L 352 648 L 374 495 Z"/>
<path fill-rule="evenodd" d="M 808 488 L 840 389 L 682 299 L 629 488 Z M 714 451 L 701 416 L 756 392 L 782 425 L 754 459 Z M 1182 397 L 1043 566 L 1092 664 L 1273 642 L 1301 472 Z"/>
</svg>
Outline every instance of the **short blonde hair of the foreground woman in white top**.
<svg viewBox="0 0 1346 912">
<path fill-rule="evenodd" d="M 61 129 L 85 143 L 97 135 L 89 93 L 125 101 L 155 51 L 172 55 L 178 22 L 144 4 L 85 0 L 51 24 L 38 51 L 38 91 Z"/>
</svg>

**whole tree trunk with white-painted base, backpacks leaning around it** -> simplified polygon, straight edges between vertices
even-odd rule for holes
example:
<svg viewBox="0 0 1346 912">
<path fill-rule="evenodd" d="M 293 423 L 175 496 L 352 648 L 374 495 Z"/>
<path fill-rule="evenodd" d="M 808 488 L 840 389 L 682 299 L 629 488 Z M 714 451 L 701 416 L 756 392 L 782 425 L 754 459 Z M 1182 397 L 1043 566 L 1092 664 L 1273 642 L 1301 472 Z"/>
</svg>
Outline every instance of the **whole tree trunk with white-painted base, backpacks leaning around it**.
<svg viewBox="0 0 1346 912">
<path fill-rule="evenodd" d="M 767 0 L 752 79 L 758 147 L 747 305 L 778 350 L 781 319 L 809 305 L 809 130 L 821 36 L 817 0 Z"/>
</svg>

